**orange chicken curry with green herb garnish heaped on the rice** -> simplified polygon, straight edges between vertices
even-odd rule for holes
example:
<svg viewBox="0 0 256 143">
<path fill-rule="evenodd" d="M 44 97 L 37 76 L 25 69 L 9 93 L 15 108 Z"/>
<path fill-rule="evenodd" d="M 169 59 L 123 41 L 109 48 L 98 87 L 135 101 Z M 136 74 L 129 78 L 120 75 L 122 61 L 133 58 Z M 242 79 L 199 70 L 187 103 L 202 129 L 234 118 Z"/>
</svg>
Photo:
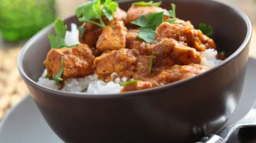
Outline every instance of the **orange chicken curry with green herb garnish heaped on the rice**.
<svg viewBox="0 0 256 143">
<path fill-rule="evenodd" d="M 73 46 L 58 40 L 65 33 L 58 19 L 55 39 L 49 35 L 52 49 L 43 62 L 48 78 L 61 88 L 65 79 L 90 74 L 105 82 L 125 77 L 121 83 L 125 92 L 163 86 L 210 69 L 201 55 L 216 50 L 210 35 L 195 29 L 191 21 L 176 18 L 174 4 L 171 10 L 160 4 L 139 1 L 124 11 L 111 0 L 87 2 L 76 11 L 82 25 L 80 44 Z"/>
</svg>

